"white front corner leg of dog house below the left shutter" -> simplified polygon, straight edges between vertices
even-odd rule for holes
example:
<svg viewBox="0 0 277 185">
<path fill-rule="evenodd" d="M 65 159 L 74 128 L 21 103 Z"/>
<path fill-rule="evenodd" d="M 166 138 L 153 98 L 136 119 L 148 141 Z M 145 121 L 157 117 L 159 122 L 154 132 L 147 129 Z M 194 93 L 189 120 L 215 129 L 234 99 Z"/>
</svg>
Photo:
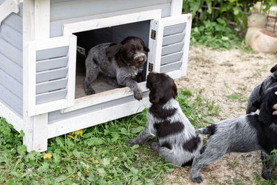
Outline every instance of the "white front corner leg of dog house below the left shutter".
<svg viewBox="0 0 277 185">
<path fill-rule="evenodd" d="M 33 117 L 33 150 L 44 152 L 47 150 L 48 114 Z"/>
</svg>

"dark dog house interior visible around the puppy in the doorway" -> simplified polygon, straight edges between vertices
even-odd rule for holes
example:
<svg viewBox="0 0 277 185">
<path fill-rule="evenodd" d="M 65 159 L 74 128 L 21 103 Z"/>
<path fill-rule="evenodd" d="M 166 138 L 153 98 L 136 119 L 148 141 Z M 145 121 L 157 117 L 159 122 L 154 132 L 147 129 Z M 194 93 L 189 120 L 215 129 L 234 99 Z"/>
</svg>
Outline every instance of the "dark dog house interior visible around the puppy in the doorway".
<svg viewBox="0 0 277 185">
<path fill-rule="evenodd" d="M 140 37 L 146 46 L 149 45 L 149 30 L 150 21 L 140 21 L 130 24 L 123 24 L 119 26 L 112 26 L 109 28 L 100 28 L 96 30 L 88 30 L 80 33 L 74 33 L 77 36 L 77 45 L 82 53 L 87 54 L 89 50 L 98 44 L 111 42 L 120 43 L 129 36 Z M 148 55 L 148 53 L 145 53 Z M 147 62 L 143 65 L 143 71 L 138 74 L 138 82 L 145 81 Z M 87 96 L 84 94 L 83 80 L 85 77 L 85 55 L 77 52 L 76 56 L 76 79 L 75 79 L 75 98 L 82 98 Z M 105 81 L 105 77 L 101 75 L 92 83 L 96 94 L 102 91 L 116 89 Z"/>
</svg>

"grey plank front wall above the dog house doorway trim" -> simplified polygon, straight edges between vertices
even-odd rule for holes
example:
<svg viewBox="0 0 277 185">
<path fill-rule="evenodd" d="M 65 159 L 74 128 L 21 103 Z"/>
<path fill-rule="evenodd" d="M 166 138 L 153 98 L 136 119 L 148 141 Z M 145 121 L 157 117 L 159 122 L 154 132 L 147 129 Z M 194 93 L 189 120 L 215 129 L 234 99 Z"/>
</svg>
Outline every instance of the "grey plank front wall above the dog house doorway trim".
<svg viewBox="0 0 277 185">
<path fill-rule="evenodd" d="M 105 4 L 105 5 L 104 5 Z M 72 8 L 74 7 L 74 8 Z M 171 0 L 51 0 L 51 37 L 62 35 L 62 25 L 77 21 L 115 16 L 136 11 L 161 9 L 161 17 L 170 16 Z"/>
</svg>

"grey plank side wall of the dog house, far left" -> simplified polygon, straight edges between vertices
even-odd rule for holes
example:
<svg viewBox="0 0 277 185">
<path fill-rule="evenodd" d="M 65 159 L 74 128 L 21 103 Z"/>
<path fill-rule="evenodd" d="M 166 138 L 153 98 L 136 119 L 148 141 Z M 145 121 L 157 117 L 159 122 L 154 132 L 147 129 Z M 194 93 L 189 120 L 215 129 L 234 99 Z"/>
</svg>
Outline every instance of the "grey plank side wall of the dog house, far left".
<svg viewBox="0 0 277 185">
<path fill-rule="evenodd" d="M 4 0 L 0 0 L 0 4 Z M 0 26 L 0 99 L 19 116 L 23 109 L 22 4 Z"/>
</svg>

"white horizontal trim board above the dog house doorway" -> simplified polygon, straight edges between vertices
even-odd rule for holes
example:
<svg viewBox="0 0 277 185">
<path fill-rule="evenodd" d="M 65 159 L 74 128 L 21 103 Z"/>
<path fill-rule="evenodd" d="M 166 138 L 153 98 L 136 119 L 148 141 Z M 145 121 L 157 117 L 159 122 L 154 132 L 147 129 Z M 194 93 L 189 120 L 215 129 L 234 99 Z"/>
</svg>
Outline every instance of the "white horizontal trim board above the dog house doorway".
<svg viewBox="0 0 277 185">
<path fill-rule="evenodd" d="M 129 24 L 137 21 L 146 21 L 151 19 L 159 19 L 161 17 L 161 10 L 149 10 L 145 12 L 135 12 L 127 15 L 116 15 L 114 17 L 105 17 L 101 19 L 93 19 L 88 21 L 80 21 L 71 24 L 64 24 L 64 35 L 93 30 L 98 28 L 105 28 L 116 26 L 120 24 Z"/>
</svg>

